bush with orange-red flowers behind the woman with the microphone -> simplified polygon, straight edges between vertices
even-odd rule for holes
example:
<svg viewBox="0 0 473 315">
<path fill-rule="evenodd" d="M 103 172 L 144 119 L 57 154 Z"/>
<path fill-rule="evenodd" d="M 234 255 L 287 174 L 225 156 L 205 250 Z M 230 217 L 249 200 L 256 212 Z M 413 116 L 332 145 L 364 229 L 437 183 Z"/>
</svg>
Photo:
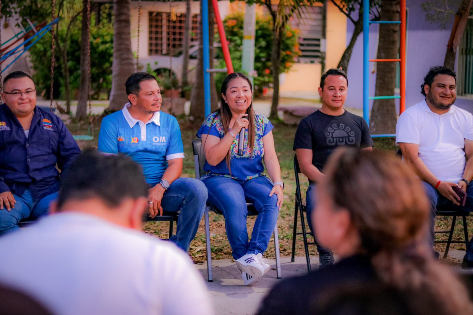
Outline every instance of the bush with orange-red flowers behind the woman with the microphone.
<svg viewBox="0 0 473 315">
<path fill-rule="evenodd" d="M 229 42 L 228 48 L 230 50 L 230 57 L 233 62 L 233 69 L 236 72 L 242 72 L 241 59 L 243 49 L 243 14 L 229 15 L 223 21 L 225 27 L 225 34 Z M 295 59 L 299 56 L 298 46 L 298 30 L 286 26 L 285 32 L 281 41 L 281 63 L 280 72 L 288 72 L 290 67 L 294 64 Z M 216 42 L 219 38 L 216 37 Z M 256 34 L 254 41 L 254 95 L 260 96 L 263 93 L 263 87 L 272 85 L 272 21 L 271 17 L 257 17 L 256 18 Z M 217 50 L 217 59 L 219 60 L 218 68 L 225 68 L 225 61 L 223 59 L 222 49 Z M 252 75 L 252 74 L 250 74 Z M 217 90 L 220 90 L 225 73 L 218 73 L 215 75 L 215 83 Z"/>
</svg>

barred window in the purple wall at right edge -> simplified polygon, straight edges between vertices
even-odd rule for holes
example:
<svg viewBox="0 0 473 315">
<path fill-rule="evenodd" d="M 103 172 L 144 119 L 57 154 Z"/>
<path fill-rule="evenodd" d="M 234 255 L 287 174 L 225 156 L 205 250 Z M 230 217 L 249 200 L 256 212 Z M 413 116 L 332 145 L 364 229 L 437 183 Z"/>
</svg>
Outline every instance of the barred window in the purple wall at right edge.
<svg viewBox="0 0 473 315">
<path fill-rule="evenodd" d="M 468 19 L 458 47 L 456 94 L 473 98 L 473 19 Z"/>
</svg>

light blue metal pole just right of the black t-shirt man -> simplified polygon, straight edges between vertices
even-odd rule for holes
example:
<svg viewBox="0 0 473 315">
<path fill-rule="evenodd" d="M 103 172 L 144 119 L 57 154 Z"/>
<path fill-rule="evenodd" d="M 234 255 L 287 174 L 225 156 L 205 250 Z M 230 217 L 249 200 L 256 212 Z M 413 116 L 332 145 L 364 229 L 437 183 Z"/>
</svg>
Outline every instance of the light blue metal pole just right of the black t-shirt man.
<svg viewBox="0 0 473 315">
<path fill-rule="evenodd" d="M 363 1 L 363 118 L 369 126 L 369 0 Z"/>
</svg>

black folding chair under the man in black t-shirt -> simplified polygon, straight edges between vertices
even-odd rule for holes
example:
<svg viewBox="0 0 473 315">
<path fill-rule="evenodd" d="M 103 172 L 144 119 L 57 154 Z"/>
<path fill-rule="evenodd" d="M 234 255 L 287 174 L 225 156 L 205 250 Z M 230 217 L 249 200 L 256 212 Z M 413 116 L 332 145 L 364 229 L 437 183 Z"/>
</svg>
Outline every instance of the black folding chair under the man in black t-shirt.
<svg viewBox="0 0 473 315">
<path fill-rule="evenodd" d="M 294 255 L 296 253 L 296 236 L 302 235 L 304 239 L 304 250 L 306 251 L 307 271 L 310 272 L 312 271 L 312 267 L 310 266 L 309 249 L 307 245 L 315 245 L 315 242 L 307 242 L 306 221 L 304 219 L 304 212 L 306 212 L 306 204 L 302 203 L 302 197 L 300 193 L 299 173 L 301 173 L 300 168 L 299 168 L 299 162 L 297 160 L 297 156 L 294 155 L 294 175 L 296 177 L 296 204 L 294 207 L 294 229 L 292 232 L 291 262 L 294 263 Z M 300 215 L 300 223 L 302 226 L 302 232 L 297 232 L 298 210 L 299 210 L 299 215 Z"/>
</svg>

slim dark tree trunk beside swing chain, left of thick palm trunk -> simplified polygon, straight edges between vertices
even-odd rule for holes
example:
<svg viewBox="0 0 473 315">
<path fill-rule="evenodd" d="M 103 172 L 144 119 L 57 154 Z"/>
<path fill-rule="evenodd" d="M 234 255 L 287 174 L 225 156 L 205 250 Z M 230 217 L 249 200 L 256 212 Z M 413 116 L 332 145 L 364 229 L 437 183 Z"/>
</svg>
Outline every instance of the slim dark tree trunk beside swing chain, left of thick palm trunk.
<svg viewBox="0 0 473 315">
<path fill-rule="evenodd" d="M 87 0 L 83 1 L 82 8 L 82 35 L 80 38 L 80 86 L 79 99 L 77 102 L 76 118 L 84 119 L 87 117 L 87 100 L 88 100 L 88 71 L 90 54 L 88 53 L 88 43 L 90 38 L 87 32 L 88 16 L 87 16 Z"/>
</svg>

